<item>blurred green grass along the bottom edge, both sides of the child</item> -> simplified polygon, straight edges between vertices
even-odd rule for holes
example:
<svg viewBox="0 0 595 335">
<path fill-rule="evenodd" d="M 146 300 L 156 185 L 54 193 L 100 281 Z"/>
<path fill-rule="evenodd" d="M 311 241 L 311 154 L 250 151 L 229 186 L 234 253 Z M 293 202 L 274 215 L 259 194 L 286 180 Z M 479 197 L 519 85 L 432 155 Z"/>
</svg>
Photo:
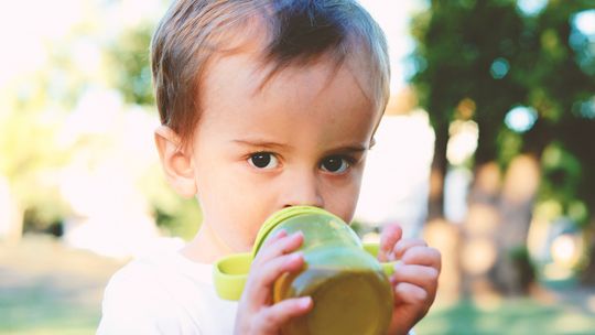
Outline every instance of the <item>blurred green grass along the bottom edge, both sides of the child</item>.
<svg viewBox="0 0 595 335">
<path fill-rule="evenodd" d="M 2 295 L 0 334 L 95 334 L 99 307 L 56 298 L 43 288 Z M 4 293 L 4 292 L 3 292 Z M 531 299 L 505 301 L 493 309 L 470 301 L 436 306 L 415 327 L 429 334 L 595 334 L 595 317 L 571 306 L 544 306 Z"/>
</svg>

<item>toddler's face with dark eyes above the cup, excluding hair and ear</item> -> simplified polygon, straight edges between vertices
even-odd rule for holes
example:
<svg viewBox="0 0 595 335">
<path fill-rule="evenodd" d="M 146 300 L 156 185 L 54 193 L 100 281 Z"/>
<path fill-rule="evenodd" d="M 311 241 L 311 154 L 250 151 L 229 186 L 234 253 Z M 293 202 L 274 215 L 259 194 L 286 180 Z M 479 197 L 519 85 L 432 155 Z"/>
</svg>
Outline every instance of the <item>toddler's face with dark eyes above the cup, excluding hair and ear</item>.
<svg viewBox="0 0 595 335">
<path fill-rule="evenodd" d="M 192 155 L 202 238 L 248 251 L 263 220 L 312 205 L 350 221 L 380 114 L 346 65 L 290 67 L 258 89 L 250 54 L 216 60 L 202 82 Z"/>
</svg>

